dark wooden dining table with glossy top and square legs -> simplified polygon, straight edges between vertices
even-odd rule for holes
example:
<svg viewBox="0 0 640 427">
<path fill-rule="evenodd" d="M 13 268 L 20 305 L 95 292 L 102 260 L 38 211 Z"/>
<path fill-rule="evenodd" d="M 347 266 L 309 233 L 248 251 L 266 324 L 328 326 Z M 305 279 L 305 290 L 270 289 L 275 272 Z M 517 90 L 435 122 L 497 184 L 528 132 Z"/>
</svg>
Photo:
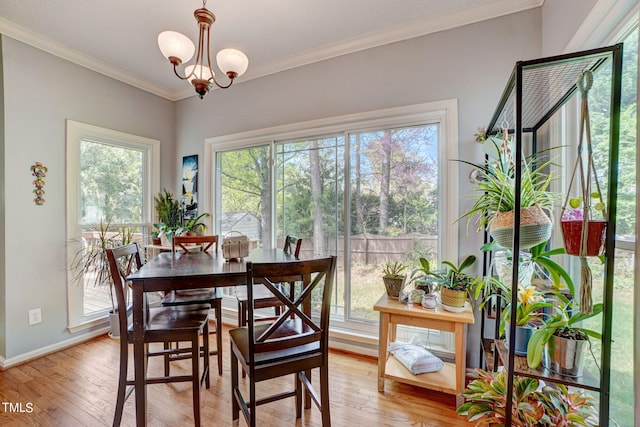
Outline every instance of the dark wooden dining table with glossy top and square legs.
<svg viewBox="0 0 640 427">
<path fill-rule="evenodd" d="M 215 252 L 162 252 L 127 277 L 133 299 L 133 359 L 136 425 L 145 426 L 145 292 L 238 286 L 246 284 L 246 263 L 296 261 L 282 249 L 253 249 L 244 260 L 226 261 Z"/>
</svg>

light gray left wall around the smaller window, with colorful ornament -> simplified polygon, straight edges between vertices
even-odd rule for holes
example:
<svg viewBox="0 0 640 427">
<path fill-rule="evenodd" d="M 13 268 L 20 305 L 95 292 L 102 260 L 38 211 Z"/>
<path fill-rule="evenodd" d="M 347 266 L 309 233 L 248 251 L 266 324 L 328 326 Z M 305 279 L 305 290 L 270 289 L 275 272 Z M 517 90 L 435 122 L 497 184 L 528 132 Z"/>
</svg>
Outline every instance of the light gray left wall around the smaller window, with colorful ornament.
<svg viewBox="0 0 640 427">
<path fill-rule="evenodd" d="M 5 249 L 0 356 L 5 359 L 72 339 L 66 331 L 65 120 L 161 141 L 161 185 L 175 176 L 172 102 L 2 37 Z M 1 142 L 1 140 L 0 140 Z M 33 203 L 30 167 L 48 167 L 46 203 Z M 2 281 L 0 281 L 2 286 Z M 27 312 L 43 322 L 28 326 Z M 77 335 L 77 334 L 76 334 Z M 3 339 L 4 337 L 4 339 Z M 2 348 L 4 345 L 4 348 Z M 1 361 L 1 360 L 0 360 Z"/>
</svg>

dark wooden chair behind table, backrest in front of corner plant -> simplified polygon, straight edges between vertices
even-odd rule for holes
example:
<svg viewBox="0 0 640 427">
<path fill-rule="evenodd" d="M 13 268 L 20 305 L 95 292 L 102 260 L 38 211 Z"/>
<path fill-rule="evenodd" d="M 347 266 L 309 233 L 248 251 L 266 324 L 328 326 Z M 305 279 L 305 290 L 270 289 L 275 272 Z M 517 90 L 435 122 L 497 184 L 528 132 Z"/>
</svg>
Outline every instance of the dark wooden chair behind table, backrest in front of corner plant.
<svg viewBox="0 0 640 427">
<path fill-rule="evenodd" d="M 178 250 L 209 252 L 210 249 L 217 253 L 218 236 L 174 236 L 171 246 L 174 253 Z M 163 306 L 181 306 L 185 304 L 209 304 L 213 310 L 216 327 L 215 329 L 210 329 L 209 333 L 216 335 L 216 348 L 210 350 L 209 354 L 218 357 L 218 375 L 222 375 L 222 289 L 202 288 L 171 291 L 162 298 Z M 169 362 L 180 358 L 180 356 L 168 358 L 165 364 L 166 375 L 169 375 Z"/>
</svg>

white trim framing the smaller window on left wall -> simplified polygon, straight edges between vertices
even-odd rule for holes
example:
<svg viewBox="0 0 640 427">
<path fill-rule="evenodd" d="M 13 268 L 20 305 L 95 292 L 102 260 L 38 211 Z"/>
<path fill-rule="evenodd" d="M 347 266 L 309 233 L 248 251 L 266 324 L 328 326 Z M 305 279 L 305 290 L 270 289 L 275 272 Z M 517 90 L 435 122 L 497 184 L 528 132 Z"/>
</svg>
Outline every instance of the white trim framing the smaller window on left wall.
<svg viewBox="0 0 640 427">
<path fill-rule="evenodd" d="M 145 153 L 143 222 L 151 223 L 153 215 L 153 195 L 160 187 L 160 141 L 105 129 L 86 123 L 67 120 L 67 260 L 77 250 L 81 228 L 80 218 L 80 143 L 91 140 L 120 147 L 130 147 Z M 75 332 L 100 325 L 106 312 L 84 315 L 83 287 L 74 284 L 73 273 L 67 269 L 67 329 Z"/>
</svg>

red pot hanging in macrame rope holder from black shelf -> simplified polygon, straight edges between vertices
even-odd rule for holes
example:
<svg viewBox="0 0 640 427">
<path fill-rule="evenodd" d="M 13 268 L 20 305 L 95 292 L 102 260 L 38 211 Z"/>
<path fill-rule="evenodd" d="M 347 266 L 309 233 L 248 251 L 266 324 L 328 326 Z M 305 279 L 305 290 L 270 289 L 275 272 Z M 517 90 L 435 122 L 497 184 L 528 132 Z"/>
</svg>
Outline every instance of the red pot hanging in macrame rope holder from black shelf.
<svg viewBox="0 0 640 427">
<path fill-rule="evenodd" d="M 588 94 L 592 84 L 593 75 L 589 70 L 584 71 L 576 83 L 582 96 L 578 155 L 560 221 L 566 252 L 580 257 L 580 311 L 584 313 L 593 310 L 591 269 L 586 258 L 603 253 L 608 222 L 591 145 Z M 580 197 L 570 196 L 574 182 L 577 182 Z M 595 186 L 593 192 L 592 184 Z M 567 207 L 571 210 L 567 211 Z M 595 220 L 592 211 L 599 211 L 603 219 Z"/>
</svg>

